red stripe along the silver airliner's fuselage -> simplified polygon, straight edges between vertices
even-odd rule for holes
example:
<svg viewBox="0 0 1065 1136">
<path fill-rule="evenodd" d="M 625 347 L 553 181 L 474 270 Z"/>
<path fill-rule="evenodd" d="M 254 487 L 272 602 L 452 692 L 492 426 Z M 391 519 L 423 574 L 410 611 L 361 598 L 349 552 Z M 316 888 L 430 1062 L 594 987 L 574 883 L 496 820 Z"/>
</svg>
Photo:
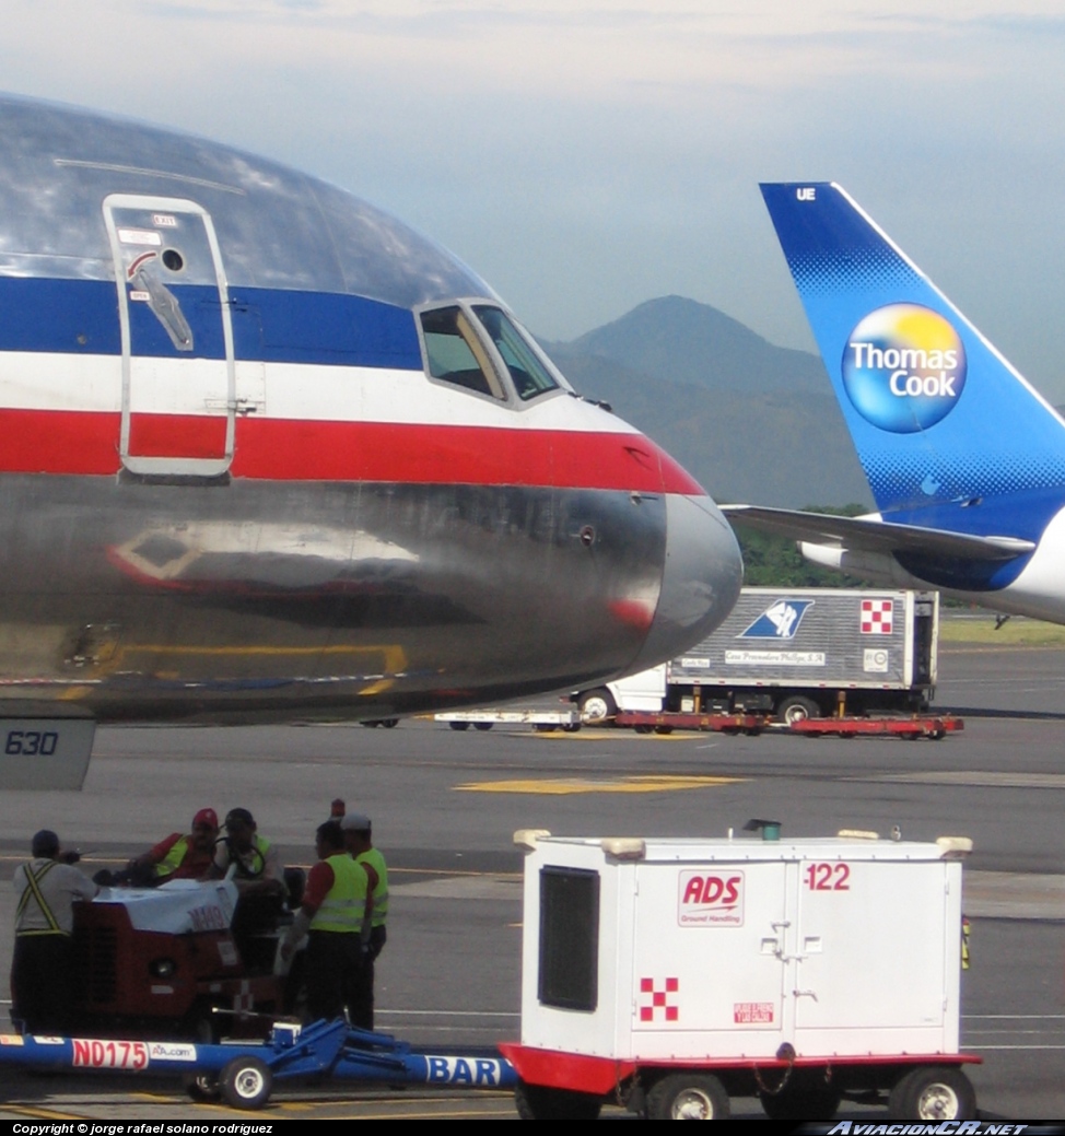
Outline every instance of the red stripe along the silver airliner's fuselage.
<svg viewBox="0 0 1065 1136">
<path fill-rule="evenodd" d="M 0 410 L 0 471 L 115 474 L 120 423 L 117 414 Z M 135 415 L 134 423 L 150 452 L 175 458 L 199 457 L 205 429 L 224 427 L 208 416 Z M 642 434 L 534 428 L 238 418 L 231 469 L 257 481 L 705 492 Z"/>
</svg>

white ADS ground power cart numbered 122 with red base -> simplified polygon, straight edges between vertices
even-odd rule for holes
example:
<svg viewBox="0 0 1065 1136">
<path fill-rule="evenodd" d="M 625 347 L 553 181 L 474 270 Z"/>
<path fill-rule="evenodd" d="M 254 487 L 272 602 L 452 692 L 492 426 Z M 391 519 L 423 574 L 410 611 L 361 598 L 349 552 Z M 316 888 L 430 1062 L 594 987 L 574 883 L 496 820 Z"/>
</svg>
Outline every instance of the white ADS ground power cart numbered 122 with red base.
<svg viewBox="0 0 1065 1136">
<path fill-rule="evenodd" d="M 775 835 L 779 829 L 764 832 Z M 965 838 L 565 838 L 525 849 L 526 1118 L 975 1114 L 962 1066 Z"/>
</svg>

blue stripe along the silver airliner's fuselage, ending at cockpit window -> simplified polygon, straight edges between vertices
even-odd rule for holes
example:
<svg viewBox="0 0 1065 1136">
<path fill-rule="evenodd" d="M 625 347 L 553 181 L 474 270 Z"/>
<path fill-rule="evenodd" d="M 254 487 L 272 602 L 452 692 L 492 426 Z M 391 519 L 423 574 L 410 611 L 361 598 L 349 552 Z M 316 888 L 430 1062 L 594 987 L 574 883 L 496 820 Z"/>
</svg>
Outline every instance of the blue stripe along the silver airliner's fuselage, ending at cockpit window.
<svg viewBox="0 0 1065 1136">
<path fill-rule="evenodd" d="M 200 333 L 194 354 L 222 358 L 217 293 L 202 285 L 170 291 Z M 233 287 L 234 352 L 264 362 L 334 364 L 422 370 L 414 314 L 378 300 L 328 292 Z M 138 354 L 175 353 L 147 304 L 131 306 Z M 120 354 L 118 299 L 108 281 L 0 277 L 0 351 Z"/>
</svg>

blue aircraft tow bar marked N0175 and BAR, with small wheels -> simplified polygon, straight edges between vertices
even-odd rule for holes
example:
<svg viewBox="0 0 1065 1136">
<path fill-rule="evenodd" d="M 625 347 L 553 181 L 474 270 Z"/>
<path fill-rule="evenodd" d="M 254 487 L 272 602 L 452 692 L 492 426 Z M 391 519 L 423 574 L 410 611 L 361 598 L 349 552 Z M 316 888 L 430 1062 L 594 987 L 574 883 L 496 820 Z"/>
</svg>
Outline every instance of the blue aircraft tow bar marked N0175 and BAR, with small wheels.
<svg viewBox="0 0 1065 1136">
<path fill-rule="evenodd" d="M 0 1064 L 177 1074 L 193 1100 L 223 1100 L 238 1109 L 260 1109 L 275 1081 L 306 1077 L 482 1089 L 517 1083 L 498 1053 L 418 1053 L 390 1034 L 352 1029 L 342 1020 L 305 1028 L 278 1024 L 258 1045 L 3 1035 Z"/>
</svg>

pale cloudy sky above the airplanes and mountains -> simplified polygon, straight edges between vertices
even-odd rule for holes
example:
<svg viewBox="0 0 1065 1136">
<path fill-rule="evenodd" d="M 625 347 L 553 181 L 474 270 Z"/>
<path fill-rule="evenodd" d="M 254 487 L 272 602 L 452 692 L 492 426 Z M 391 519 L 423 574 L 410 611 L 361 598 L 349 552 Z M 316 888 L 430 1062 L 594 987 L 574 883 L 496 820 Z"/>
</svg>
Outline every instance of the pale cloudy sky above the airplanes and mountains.
<svg viewBox="0 0 1065 1136">
<path fill-rule="evenodd" d="M 1065 401 L 1065 0 L 5 0 L 9 90 L 396 212 L 569 339 L 668 293 L 813 350 L 758 181 L 844 185 Z"/>
</svg>

